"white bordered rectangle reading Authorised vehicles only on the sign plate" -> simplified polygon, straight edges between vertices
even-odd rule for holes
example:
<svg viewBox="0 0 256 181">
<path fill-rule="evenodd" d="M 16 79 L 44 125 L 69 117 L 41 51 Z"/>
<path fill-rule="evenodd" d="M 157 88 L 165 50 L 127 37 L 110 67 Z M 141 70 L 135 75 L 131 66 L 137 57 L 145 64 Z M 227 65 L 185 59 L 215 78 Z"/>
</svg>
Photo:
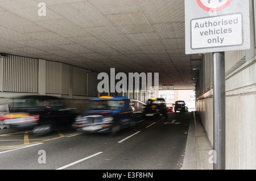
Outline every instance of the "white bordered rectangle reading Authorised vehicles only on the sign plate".
<svg viewBox="0 0 256 181">
<path fill-rule="evenodd" d="M 191 49 L 242 44 L 243 24 L 241 13 L 191 20 Z"/>
</svg>

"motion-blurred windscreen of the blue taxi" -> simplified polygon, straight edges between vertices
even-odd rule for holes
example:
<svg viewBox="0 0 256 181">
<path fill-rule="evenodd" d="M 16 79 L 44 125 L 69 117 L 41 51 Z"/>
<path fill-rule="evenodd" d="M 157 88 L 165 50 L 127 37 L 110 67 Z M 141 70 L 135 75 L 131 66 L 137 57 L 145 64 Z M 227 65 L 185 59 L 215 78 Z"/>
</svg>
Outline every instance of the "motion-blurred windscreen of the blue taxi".
<svg viewBox="0 0 256 181">
<path fill-rule="evenodd" d="M 92 100 L 88 110 L 121 110 L 124 105 L 121 100 Z"/>
</svg>

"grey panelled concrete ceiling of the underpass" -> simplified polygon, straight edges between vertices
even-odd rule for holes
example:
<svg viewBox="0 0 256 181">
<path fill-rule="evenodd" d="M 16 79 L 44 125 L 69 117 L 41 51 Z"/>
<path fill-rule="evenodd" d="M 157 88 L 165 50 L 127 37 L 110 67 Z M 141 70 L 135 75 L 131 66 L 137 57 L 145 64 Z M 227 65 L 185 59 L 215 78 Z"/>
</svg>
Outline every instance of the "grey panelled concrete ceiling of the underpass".
<svg viewBox="0 0 256 181">
<path fill-rule="evenodd" d="M 175 89 L 194 89 L 192 69 L 201 63 L 185 54 L 182 0 L 1 0 L 0 32 L 0 53 L 98 72 L 156 72 L 160 85 Z"/>
</svg>

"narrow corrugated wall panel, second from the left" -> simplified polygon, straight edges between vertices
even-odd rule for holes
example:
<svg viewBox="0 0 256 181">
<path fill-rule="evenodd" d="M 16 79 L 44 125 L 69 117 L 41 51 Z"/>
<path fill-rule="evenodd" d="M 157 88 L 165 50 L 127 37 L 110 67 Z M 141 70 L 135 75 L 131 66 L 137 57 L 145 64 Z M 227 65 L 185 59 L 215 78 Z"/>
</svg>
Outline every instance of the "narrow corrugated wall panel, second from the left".
<svg viewBox="0 0 256 181">
<path fill-rule="evenodd" d="M 62 63 L 46 61 L 46 93 L 61 94 Z"/>
</svg>

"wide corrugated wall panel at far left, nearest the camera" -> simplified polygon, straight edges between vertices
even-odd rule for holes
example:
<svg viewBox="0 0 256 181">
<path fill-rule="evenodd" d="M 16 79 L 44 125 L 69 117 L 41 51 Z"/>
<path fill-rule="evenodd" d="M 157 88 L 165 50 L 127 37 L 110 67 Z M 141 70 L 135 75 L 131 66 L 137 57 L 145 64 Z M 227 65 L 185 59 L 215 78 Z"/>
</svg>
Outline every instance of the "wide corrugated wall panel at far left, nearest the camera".
<svg viewBox="0 0 256 181">
<path fill-rule="evenodd" d="M 4 92 L 38 92 L 38 59 L 10 55 L 3 60 Z"/>
</svg>

